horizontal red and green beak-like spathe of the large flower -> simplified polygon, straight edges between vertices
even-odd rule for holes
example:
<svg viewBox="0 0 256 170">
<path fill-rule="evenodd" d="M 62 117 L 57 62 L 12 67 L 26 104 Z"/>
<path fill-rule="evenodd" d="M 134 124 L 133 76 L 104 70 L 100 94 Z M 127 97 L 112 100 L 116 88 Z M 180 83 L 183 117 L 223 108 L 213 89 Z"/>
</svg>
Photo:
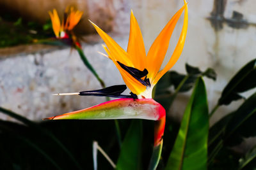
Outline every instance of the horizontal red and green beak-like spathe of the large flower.
<svg viewBox="0 0 256 170">
<path fill-rule="evenodd" d="M 45 120 L 58 119 L 127 119 L 140 118 L 145 120 L 159 120 L 165 117 L 165 110 L 161 104 L 153 99 L 116 99 L 97 104 L 84 110 L 65 113 Z"/>
</svg>

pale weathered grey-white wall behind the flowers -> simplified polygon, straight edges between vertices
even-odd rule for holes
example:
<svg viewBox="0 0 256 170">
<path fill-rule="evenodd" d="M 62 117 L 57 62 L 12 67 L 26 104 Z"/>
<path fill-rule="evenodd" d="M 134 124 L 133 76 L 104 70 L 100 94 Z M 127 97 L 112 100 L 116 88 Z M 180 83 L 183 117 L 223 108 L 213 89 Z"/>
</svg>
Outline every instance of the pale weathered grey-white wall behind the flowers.
<svg viewBox="0 0 256 170">
<path fill-rule="evenodd" d="M 190 0 L 188 35 L 184 51 L 172 69 L 185 73 L 184 64 L 204 70 L 212 67 L 218 74 L 216 82 L 206 81 L 209 109 L 216 104 L 220 92 L 231 76 L 249 60 L 255 58 L 256 48 L 256 2 L 253 0 Z M 145 41 L 146 49 L 157 37 L 172 15 L 183 5 L 182 0 L 0 0 L 1 8 L 19 13 L 29 20 L 44 22 L 49 19 L 47 11 L 57 8 L 59 13 L 67 5 L 84 11 L 77 30 L 87 34 L 83 44 L 92 65 L 107 85 L 123 83 L 112 62 L 97 53 L 102 40 L 94 35 L 88 19 L 111 32 L 111 36 L 126 49 L 129 38 L 129 15 L 134 11 Z M 182 27 L 182 20 L 173 33 L 166 57 L 172 55 Z M 29 47 L 33 48 L 33 46 Z M 56 92 L 77 92 L 100 88 L 93 75 L 83 66 L 76 51 L 69 48 L 24 50 L 0 49 L 0 106 L 25 115 L 32 120 L 78 110 L 104 101 L 100 97 L 56 97 Z M 25 49 L 25 48 L 24 48 Z M 10 54 L 8 54 L 10 52 Z M 244 94 L 248 96 L 250 92 Z M 184 112 L 189 93 L 179 94 L 170 115 L 180 118 Z M 212 122 L 229 113 L 241 101 L 221 107 Z M 3 117 L 3 115 L 1 115 Z M 8 119 L 8 117 L 3 117 Z M 211 122 L 211 123 L 212 123 Z"/>
</svg>

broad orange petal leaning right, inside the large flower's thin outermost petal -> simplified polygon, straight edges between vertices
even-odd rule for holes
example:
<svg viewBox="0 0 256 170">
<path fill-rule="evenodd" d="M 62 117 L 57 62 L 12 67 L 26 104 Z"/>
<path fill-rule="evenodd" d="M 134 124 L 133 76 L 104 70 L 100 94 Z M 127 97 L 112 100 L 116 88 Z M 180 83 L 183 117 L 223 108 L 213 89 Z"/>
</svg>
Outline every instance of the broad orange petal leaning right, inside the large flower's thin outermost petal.
<svg viewBox="0 0 256 170">
<path fill-rule="evenodd" d="M 162 62 L 164 60 L 165 54 L 168 50 L 169 41 L 172 36 L 172 32 L 177 24 L 182 11 L 184 10 L 186 5 L 182 6 L 175 15 L 173 15 L 172 19 L 166 24 L 164 29 L 160 32 L 159 36 L 157 36 L 156 40 L 150 47 L 147 55 L 147 69 L 148 69 L 148 78 L 151 80 L 156 76 L 159 71 Z"/>
</svg>

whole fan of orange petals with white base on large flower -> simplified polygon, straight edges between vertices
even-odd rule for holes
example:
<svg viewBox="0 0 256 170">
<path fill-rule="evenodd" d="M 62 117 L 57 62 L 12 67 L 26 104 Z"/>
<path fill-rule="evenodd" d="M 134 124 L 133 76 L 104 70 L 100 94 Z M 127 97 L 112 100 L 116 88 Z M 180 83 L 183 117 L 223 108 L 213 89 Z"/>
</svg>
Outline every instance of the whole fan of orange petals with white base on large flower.
<svg viewBox="0 0 256 170">
<path fill-rule="evenodd" d="M 183 11 L 184 22 L 179 41 L 175 47 L 172 57 L 166 66 L 160 70 L 168 50 L 172 32 Z M 175 15 L 171 18 L 168 24 L 166 24 L 164 29 L 160 32 L 159 36 L 157 36 L 154 43 L 150 47 L 147 55 L 145 52 L 145 46 L 140 27 L 132 11 L 127 52 L 125 52 L 124 49 L 122 49 L 110 36 L 108 36 L 108 34 L 106 34 L 106 32 L 102 31 L 102 29 L 100 29 L 97 25 L 93 24 L 93 26 L 106 43 L 106 46 L 103 47 L 108 53 L 109 59 L 113 60 L 114 64 L 120 71 L 127 87 L 140 98 L 152 98 L 152 89 L 154 88 L 154 85 L 156 85 L 157 81 L 159 81 L 159 79 L 177 62 L 184 47 L 188 29 L 188 6 L 184 0 L 184 6 L 182 6 L 182 8 L 180 8 L 180 10 L 177 11 L 177 13 L 175 13 Z M 140 81 L 136 80 L 136 78 L 132 77 L 131 74 L 127 73 L 127 71 L 125 71 L 120 66 L 120 64 L 118 64 L 118 62 L 121 62 L 125 66 L 134 67 L 139 70 L 146 68 L 148 71 L 147 78 L 149 79 L 151 85 L 146 87 L 145 85 L 141 84 Z"/>
</svg>

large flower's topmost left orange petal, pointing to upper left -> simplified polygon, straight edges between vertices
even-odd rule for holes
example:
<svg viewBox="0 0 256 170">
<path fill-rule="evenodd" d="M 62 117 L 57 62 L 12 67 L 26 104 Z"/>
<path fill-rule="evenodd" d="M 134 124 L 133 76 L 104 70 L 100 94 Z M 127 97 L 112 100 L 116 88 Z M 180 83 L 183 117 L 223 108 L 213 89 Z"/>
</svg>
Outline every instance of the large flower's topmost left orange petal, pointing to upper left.
<svg viewBox="0 0 256 170">
<path fill-rule="evenodd" d="M 90 21 L 91 22 L 91 21 Z M 109 52 L 111 53 L 111 56 L 118 60 L 119 62 L 122 62 L 125 64 L 125 66 L 134 67 L 133 63 L 131 62 L 131 59 L 129 58 L 129 55 L 121 46 L 119 46 L 116 41 L 114 41 L 106 32 L 102 31 L 97 25 L 95 25 L 93 22 L 91 22 L 93 27 L 95 27 L 96 31 L 99 33 L 100 37 L 104 40 L 106 45 L 108 46 Z"/>
</svg>

